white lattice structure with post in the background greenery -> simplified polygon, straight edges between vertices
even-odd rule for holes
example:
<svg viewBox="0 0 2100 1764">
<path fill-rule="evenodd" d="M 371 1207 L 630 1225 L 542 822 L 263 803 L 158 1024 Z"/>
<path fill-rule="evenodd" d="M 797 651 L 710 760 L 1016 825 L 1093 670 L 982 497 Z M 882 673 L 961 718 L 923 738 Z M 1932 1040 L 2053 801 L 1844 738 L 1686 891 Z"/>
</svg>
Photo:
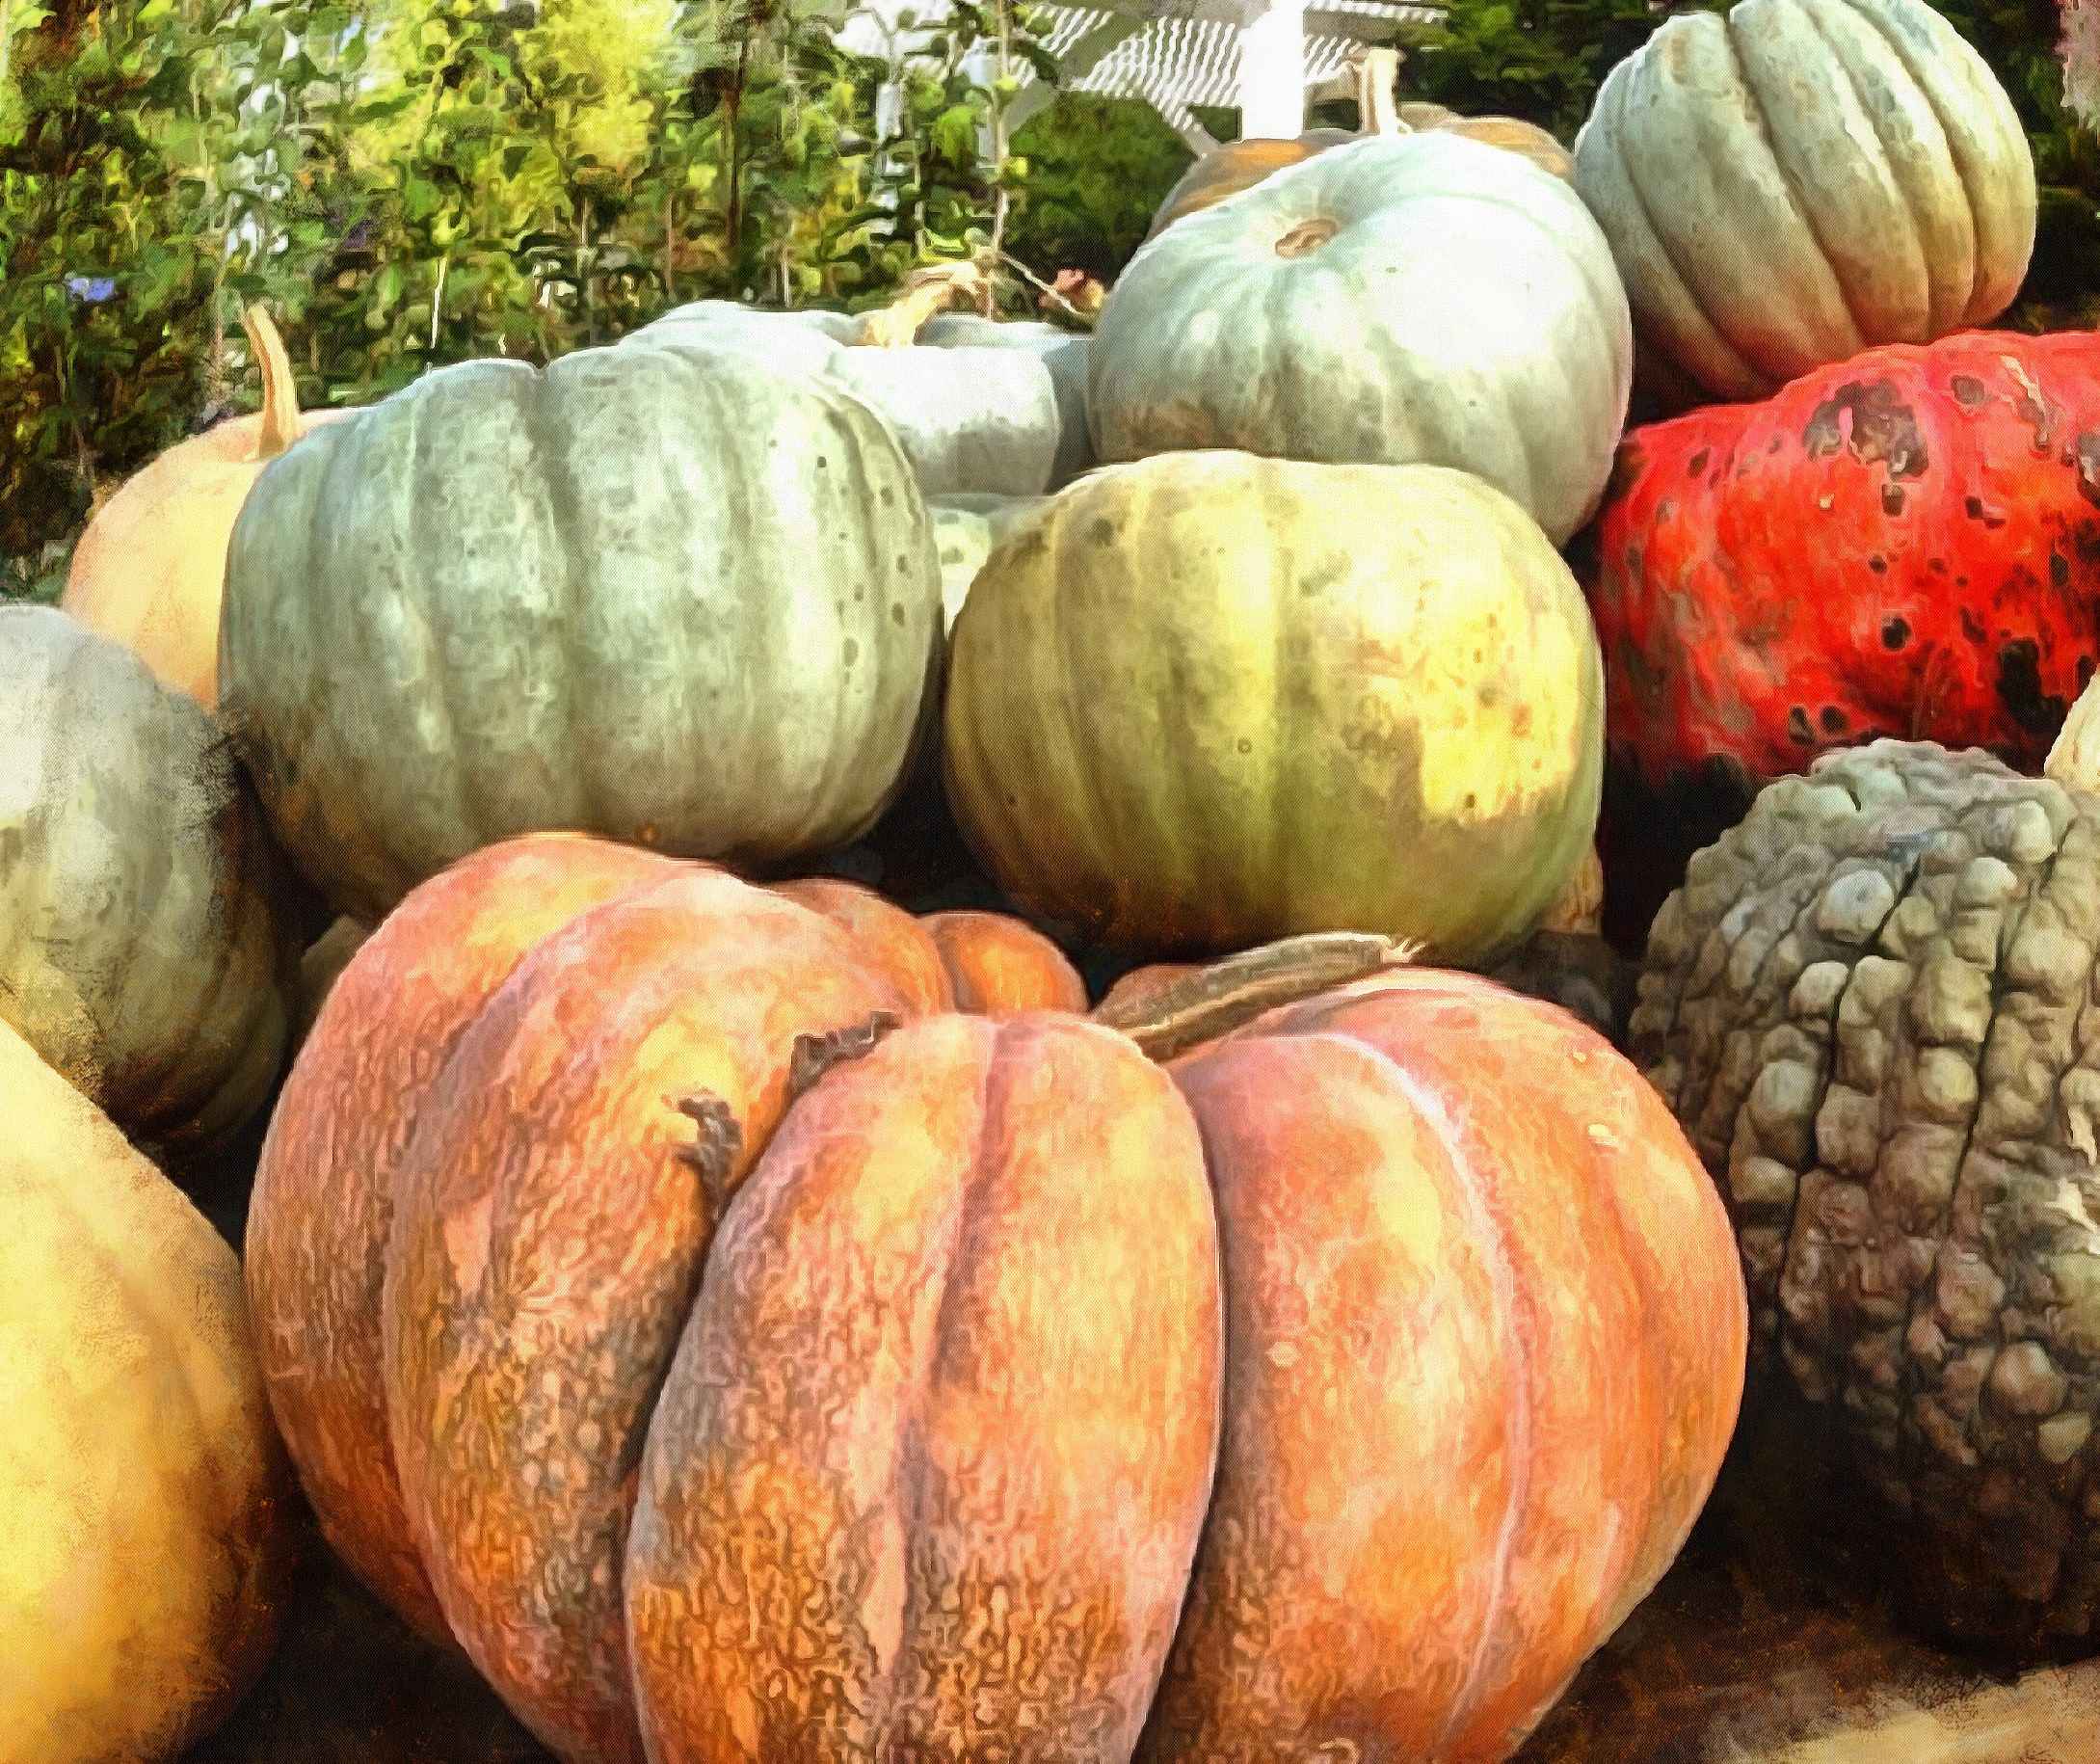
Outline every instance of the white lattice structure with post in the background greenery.
<svg viewBox="0 0 2100 1764">
<path fill-rule="evenodd" d="M 941 0 L 865 0 L 840 38 L 867 55 L 895 55 L 901 10 L 918 15 L 909 38 L 939 19 Z M 1010 126 L 1058 90 L 1142 99 L 1199 153 L 1218 143 L 1193 105 L 1237 107 L 1245 136 L 1298 134 L 1308 94 L 1348 90 L 1348 63 L 1365 42 L 1443 13 L 1413 0 L 1105 0 L 1046 10 L 1054 19 L 1048 48 L 1065 78 L 1052 88 L 1023 69 Z"/>
</svg>

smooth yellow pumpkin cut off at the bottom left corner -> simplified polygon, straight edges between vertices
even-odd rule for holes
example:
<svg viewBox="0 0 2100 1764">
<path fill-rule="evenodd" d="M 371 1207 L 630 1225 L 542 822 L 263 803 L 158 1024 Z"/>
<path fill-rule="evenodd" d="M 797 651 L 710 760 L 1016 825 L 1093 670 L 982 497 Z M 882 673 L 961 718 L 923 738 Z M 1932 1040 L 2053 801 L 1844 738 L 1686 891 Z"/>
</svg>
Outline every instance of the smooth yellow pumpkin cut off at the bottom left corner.
<svg viewBox="0 0 2100 1764">
<path fill-rule="evenodd" d="M 0 1117 L 0 1764 L 174 1758 L 292 1567 L 239 1264 L 6 1023 Z"/>
</svg>

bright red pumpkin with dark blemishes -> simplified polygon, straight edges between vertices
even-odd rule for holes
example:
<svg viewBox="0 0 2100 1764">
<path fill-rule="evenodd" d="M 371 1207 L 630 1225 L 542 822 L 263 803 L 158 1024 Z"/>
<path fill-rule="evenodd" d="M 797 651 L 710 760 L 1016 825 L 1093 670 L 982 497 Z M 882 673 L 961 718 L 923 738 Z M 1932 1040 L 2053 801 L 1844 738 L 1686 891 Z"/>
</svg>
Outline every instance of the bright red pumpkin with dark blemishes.
<svg viewBox="0 0 2100 1764">
<path fill-rule="evenodd" d="M 1596 527 L 1606 916 L 1875 735 L 2039 766 L 2100 653 L 2100 344 L 1970 332 L 1634 430 Z"/>
</svg>

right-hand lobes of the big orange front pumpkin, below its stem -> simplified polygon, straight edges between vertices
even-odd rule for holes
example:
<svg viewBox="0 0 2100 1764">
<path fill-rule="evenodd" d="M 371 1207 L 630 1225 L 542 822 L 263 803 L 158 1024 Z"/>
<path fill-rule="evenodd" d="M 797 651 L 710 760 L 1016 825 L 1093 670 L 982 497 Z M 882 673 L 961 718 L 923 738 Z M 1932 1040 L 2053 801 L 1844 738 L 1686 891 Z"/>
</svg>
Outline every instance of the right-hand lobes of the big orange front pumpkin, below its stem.
<svg viewBox="0 0 2100 1764">
<path fill-rule="evenodd" d="M 1285 1006 L 1172 1071 L 1228 1361 L 1138 1758 L 1508 1758 L 1720 1470 L 1747 1325 L 1720 1197 L 1602 1037 L 1466 974 Z"/>
</svg>

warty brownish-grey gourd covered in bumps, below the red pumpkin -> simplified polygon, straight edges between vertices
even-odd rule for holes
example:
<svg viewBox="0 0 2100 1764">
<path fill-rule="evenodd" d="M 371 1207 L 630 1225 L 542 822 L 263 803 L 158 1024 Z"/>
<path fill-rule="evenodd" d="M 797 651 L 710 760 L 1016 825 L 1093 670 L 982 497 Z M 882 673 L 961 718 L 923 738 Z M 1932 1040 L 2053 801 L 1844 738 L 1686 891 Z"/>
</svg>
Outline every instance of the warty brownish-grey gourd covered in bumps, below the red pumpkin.
<svg viewBox="0 0 2100 1764">
<path fill-rule="evenodd" d="M 1632 1050 L 1728 1199 L 1754 1352 L 1844 1418 L 1932 1615 L 2100 1615 L 2100 802 L 1873 741 L 1655 922 Z"/>
</svg>

